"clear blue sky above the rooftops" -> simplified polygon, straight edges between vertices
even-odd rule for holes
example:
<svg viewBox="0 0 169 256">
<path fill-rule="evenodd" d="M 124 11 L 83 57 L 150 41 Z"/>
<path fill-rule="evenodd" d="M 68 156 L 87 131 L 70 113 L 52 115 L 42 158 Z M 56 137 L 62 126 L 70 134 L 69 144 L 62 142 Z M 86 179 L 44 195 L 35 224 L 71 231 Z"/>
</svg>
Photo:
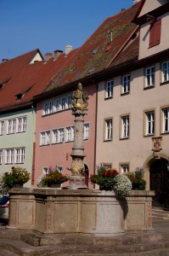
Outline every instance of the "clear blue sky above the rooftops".
<svg viewBox="0 0 169 256">
<path fill-rule="evenodd" d="M 0 0 L 0 62 L 40 49 L 80 47 L 108 17 L 132 0 Z"/>
</svg>

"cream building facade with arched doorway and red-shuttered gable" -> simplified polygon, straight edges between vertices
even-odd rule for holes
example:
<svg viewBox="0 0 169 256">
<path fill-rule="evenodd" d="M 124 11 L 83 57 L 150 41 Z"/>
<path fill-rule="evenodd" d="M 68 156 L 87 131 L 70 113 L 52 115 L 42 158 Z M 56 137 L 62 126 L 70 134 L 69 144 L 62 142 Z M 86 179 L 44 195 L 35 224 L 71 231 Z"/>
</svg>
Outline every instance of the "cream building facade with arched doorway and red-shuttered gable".
<svg viewBox="0 0 169 256">
<path fill-rule="evenodd" d="M 119 172 L 144 168 L 155 207 L 169 207 L 169 1 L 144 1 L 136 18 L 138 61 L 99 83 L 96 164 Z M 165 8 L 166 7 L 166 12 Z M 161 20 L 159 42 L 150 44 Z M 159 23 L 158 23 L 159 24 Z M 140 28 L 140 30 L 139 30 Z M 156 39 L 156 38 L 155 38 Z"/>
</svg>

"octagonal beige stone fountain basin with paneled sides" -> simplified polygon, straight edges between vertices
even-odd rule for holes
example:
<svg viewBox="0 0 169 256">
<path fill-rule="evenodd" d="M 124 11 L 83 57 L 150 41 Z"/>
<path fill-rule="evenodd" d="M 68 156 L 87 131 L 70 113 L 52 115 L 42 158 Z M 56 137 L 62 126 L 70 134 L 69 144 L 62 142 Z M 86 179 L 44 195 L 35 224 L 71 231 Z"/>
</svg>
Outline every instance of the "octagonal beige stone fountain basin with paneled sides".
<svg viewBox="0 0 169 256">
<path fill-rule="evenodd" d="M 132 191 L 126 201 L 96 189 L 11 189 L 8 229 L 42 234 L 119 236 L 152 231 L 152 191 Z"/>
</svg>

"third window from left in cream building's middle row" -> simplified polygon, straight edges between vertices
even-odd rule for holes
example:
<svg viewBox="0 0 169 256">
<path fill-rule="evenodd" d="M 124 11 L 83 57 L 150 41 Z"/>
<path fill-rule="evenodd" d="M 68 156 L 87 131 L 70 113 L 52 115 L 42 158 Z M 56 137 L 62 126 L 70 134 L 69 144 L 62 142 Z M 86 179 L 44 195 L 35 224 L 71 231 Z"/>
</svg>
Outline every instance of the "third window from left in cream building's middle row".
<svg viewBox="0 0 169 256">
<path fill-rule="evenodd" d="M 145 113 L 145 135 L 151 136 L 155 133 L 155 111 Z"/>
</svg>

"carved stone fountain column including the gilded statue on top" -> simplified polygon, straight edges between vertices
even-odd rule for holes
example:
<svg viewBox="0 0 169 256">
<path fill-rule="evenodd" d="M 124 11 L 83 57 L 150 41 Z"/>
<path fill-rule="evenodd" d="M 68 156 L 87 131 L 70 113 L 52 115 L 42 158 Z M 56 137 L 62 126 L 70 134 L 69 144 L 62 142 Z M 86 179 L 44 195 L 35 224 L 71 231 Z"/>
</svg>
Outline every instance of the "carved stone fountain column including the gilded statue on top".
<svg viewBox="0 0 169 256">
<path fill-rule="evenodd" d="M 70 156 L 71 176 L 69 189 L 87 189 L 83 172 L 85 170 L 83 159 L 86 156 L 83 147 L 84 116 L 87 114 L 87 92 L 82 90 L 82 84 L 77 85 L 77 90 L 72 95 L 72 114 L 75 116 L 74 143 Z"/>
</svg>

